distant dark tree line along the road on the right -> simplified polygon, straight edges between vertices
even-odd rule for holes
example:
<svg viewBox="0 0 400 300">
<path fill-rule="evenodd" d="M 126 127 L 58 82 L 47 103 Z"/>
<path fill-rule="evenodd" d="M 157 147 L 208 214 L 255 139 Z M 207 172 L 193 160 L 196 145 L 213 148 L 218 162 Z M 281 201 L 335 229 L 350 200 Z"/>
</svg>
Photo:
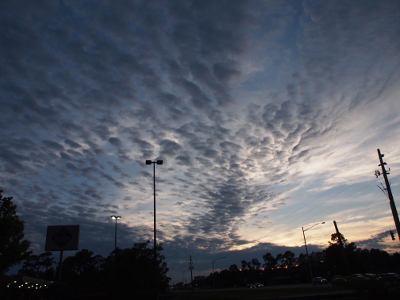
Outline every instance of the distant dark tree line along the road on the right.
<svg viewBox="0 0 400 300">
<path fill-rule="evenodd" d="M 217 288 L 246 286 L 251 283 L 283 284 L 311 282 L 312 277 L 331 279 L 340 275 L 400 273 L 400 254 L 389 254 L 380 249 L 361 249 L 354 242 L 348 242 L 341 235 L 343 246 L 337 233 L 331 235 L 329 246 L 322 251 L 314 251 L 308 257 L 301 253 L 296 256 L 291 251 L 273 256 L 263 255 L 263 262 L 257 258 L 242 260 L 228 269 L 210 273 L 205 281 L 196 281 L 198 287 Z"/>
</svg>

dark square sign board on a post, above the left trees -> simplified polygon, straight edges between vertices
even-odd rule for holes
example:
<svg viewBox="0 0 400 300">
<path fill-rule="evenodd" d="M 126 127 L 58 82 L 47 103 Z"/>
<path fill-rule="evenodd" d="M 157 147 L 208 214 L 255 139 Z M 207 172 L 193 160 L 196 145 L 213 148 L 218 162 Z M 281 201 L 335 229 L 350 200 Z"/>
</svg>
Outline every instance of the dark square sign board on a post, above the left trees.
<svg viewBox="0 0 400 300">
<path fill-rule="evenodd" d="M 45 251 L 79 250 L 79 225 L 47 226 Z"/>
</svg>

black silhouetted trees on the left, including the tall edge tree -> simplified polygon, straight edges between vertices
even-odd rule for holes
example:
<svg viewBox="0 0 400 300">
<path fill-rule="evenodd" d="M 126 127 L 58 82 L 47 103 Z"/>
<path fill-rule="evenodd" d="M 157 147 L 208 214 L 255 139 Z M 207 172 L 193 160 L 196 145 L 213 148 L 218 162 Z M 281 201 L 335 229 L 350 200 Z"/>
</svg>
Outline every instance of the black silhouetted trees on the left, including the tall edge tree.
<svg viewBox="0 0 400 300">
<path fill-rule="evenodd" d="M 115 249 L 107 257 L 83 249 L 59 265 L 52 252 L 39 255 L 29 251 L 24 239 L 24 222 L 19 219 L 12 197 L 0 191 L 0 298 L 1 299 L 149 299 L 165 291 L 170 278 L 161 254 L 150 241 L 131 248 Z M 156 251 L 154 251 L 156 250 Z M 6 276 L 14 265 L 23 262 L 18 275 Z M 25 286 L 22 276 L 55 282 Z M 25 277 L 26 278 L 26 277 Z M 43 288 L 45 287 L 45 288 Z M 43 289 L 42 289 L 43 288 Z"/>
</svg>

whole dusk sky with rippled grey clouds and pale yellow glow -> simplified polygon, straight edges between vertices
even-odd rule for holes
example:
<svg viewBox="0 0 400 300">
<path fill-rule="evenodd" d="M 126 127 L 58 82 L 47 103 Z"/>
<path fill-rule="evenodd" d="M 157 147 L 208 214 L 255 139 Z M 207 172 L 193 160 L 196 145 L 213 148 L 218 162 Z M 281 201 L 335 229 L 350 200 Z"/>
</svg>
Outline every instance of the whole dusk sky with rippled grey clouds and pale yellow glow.
<svg viewBox="0 0 400 300">
<path fill-rule="evenodd" d="M 304 252 L 322 221 L 311 249 L 336 220 L 400 250 L 374 176 L 380 149 L 399 199 L 399 1 L 0 5 L 0 187 L 35 253 L 48 225 L 79 224 L 107 256 L 114 214 L 119 247 L 152 241 L 154 159 L 175 282 L 189 255 L 199 275 Z"/>
</svg>

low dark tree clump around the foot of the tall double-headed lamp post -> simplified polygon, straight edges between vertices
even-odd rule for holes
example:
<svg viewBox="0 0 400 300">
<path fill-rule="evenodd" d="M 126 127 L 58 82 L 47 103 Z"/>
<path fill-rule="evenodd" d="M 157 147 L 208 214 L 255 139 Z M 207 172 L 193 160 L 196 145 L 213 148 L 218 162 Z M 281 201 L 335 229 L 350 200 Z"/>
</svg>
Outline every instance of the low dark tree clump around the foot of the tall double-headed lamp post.
<svg viewBox="0 0 400 300">
<path fill-rule="evenodd" d="M 157 245 L 156 260 L 154 249 L 149 246 L 150 241 L 135 243 L 132 248 L 117 248 L 107 257 L 83 249 L 64 259 L 61 268 L 52 252 L 30 255 L 18 275 L 57 279 L 60 289 L 67 291 L 70 298 L 78 294 L 124 297 L 133 293 L 145 299 L 155 291 L 165 291 L 170 280 L 165 257 L 160 254 L 162 245 Z"/>
</svg>

